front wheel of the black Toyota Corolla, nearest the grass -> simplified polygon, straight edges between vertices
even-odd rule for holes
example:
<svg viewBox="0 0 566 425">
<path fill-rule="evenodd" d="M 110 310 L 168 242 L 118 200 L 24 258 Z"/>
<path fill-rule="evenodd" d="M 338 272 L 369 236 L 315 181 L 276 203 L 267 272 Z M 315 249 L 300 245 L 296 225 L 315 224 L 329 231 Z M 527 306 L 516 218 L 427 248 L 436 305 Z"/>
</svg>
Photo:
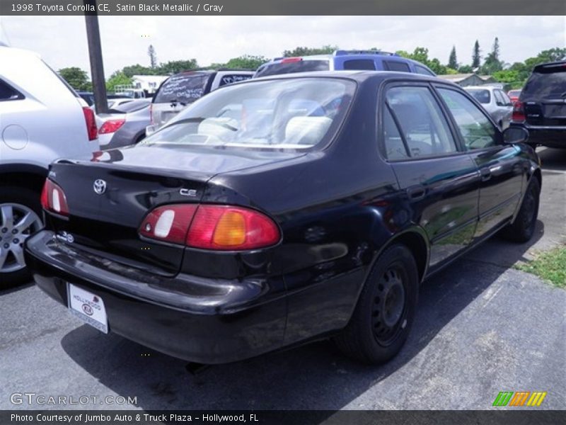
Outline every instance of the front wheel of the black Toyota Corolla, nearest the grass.
<svg viewBox="0 0 566 425">
<path fill-rule="evenodd" d="M 523 244 L 533 237 L 538 217 L 538 204 L 541 197 L 541 184 L 536 177 L 531 177 L 526 188 L 521 209 L 515 221 L 503 229 L 502 235 L 511 242 Z"/>
</svg>

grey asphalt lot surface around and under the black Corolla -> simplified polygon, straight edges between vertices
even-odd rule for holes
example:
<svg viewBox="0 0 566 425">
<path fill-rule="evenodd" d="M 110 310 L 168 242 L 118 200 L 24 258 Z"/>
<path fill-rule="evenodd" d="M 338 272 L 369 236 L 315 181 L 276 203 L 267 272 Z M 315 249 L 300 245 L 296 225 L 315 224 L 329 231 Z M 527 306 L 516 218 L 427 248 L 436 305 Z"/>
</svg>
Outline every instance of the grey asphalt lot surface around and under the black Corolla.
<svg viewBox="0 0 566 425">
<path fill-rule="evenodd" d="M 492 409 L 500 391 L 545 391 L 540 409 L 566 409 L 566 291 L 511 267 L 566 243 L 566 150 L 539 150 L 533 240 L 496 236 L 427 281 L 410 338 L 386 365 L 323 341 L 188 373 L 81 324 L 30 283 L 0 293 L 0 409 Z M 89 401 L 13 404 L 24 392 Z M 107 396 L 136 405 L 101 404 Z"/>
</svg>

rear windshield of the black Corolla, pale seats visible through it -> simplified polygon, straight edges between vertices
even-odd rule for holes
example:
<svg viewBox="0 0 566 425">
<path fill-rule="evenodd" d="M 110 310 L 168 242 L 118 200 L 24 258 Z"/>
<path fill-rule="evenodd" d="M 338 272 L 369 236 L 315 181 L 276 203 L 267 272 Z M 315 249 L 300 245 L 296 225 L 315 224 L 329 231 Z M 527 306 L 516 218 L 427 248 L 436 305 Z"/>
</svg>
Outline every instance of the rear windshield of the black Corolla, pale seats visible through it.
<svg viewBox="0 0 566 425">
<path fill-rule="evenodd" d="M 326 78 L 226 86 L 185 108 L 143 144 L 307 149 L 335 133 L 354 89 L 353 81 Z"/>
</svg>

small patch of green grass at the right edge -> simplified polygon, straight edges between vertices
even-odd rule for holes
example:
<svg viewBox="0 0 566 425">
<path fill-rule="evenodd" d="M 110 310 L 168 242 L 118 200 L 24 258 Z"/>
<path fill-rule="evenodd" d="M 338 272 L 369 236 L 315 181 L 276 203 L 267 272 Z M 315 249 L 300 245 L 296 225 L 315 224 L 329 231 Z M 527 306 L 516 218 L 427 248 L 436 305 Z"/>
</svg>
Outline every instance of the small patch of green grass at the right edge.
<svg viewBox="0 0 566 425">
<path fill-rule="evenodd" d="M 566 246 L 539 252 L 532 261 L 516 264 L 515 268 L 566 289 Z"/>
</svg>

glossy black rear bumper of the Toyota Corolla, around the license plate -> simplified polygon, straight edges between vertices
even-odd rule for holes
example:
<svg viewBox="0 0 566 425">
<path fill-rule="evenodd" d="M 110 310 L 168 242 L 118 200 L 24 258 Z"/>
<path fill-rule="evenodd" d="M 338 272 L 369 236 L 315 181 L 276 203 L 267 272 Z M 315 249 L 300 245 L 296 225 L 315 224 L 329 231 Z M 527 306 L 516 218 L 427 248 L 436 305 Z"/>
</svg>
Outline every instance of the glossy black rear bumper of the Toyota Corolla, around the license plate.
<svg viewBox="0 0 566 425">
<path fill-rule="evenodd" d="M 43 230 L 25 257 L 37 286 L 67 305 L 67 282 L 100 297 L 110 331 L 197 363 L 229 363 L 280 348 L 285 297 L 270 281 L 157 276 L 103 259 Z"/>
</svg>

